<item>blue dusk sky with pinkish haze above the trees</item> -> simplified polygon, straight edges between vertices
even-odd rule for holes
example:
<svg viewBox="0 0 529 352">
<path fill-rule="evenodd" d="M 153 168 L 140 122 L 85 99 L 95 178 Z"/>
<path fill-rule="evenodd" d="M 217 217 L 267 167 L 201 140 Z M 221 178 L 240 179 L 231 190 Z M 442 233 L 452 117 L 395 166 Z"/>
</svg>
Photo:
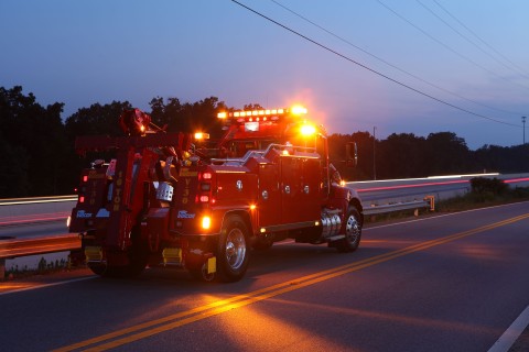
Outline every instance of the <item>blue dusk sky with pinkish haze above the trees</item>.
<svg viewBox="0 0 529 352">
<path fill-rule="evenodd" d="M 0 0 L 0 87 L 63 119 L 154 97 L 303 103 L 330 133 L 522 143 L 527 0 Z M 528 121 L 529 122 L 529 121 Z M 529 123 L 526 141 L 529 140 Z"/>
</svg>

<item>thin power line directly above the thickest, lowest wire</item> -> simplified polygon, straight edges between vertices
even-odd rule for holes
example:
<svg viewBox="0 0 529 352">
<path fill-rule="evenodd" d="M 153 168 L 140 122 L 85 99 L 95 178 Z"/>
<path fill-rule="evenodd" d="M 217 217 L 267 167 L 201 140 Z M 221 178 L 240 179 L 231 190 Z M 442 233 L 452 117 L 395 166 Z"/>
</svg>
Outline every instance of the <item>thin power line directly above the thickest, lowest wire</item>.
<svg viewBox="0 0 529 352">
<path fill-rule="evenodd" d="M 344 43 L 346 43 L 346 44 L 348 44 L 348 45 L 350 45 L 350 46 L 359 50 L 359 51 L 363 52 L 364 54 L 367 54 L 367 55 L 369 55 L 369 56 L 378 59 L 379 62 L 381 62 L 381 63 L 384 63 L 384 64 L 386 64 L 386 65 L 388 65 L 388 66 L 390 66 L 390 67 L 392 67 L 392 68 L 395 68 L 395 69 L 397 69 L 397 70 L 399 70 L 399 72 L 401 72 L 401 73 L 403 73 L 403 74 L 406 74 L 406 75 L 408 75 L 408 76 L 417 79 L 417 80 L 422 81 L 423 84 L 427 84 L 427 85 L 429 85 L 429 86 L 431 86 L 431 87 L 433 87 L 433 88 L 436 88 L 436 89 L 439 89 L 439 90 L 442 90 L 442 91 L 444 91 L 444 92 L 446 92 L 446 94 L 450 94 L 450 95 L 452 95 L 452 96 L 454 96 L 454 97 L 457 97 L 457 98 L 460 98 L 460 99 L 469 101 L 469 102 L 472 102 L 472 103 L 478 105 L 478 106 L 481 106 L 481 107 L 484 107 L 484 108 L 487 108 L 487 109 L 490 109 L 490 110 L 496 110 L 496 111 L 499 111 L 499 112 L 506 112 L 506 113 L 510 113 L 510 114 L 514 114 L 514 116 L 522 114 L 522 112 L 514 112 L 514 111 L 508 111 L 508 110 L 504 110 L 504 109 L 499 109 L 499 108 L 495 108 L 495 107 L 487 106 L 487 105 L 482 103 L 482 102 L 479 102 L 479 101 L 475 101 L 475 100 L 465 98 L 465 97 L 463 97 L 463 96 L 461 96 L 461 95 L 458 95 L 458 94 L 456 94 L 456 92 L 453 92 L 453 91 L 451 91 L 451 90 L 449 90 L 449 89 L 445 89 L 445 88 L 443 88 L 443 87 L 440 87 L 440 86 L 438 86 L 438 85 L 435 85 L 435 84 L 432 84 L 432 82 L 430 82 L 430 81 L 428 81 L 428 80 L 425 80 L 425 79 L 423 79 L 423 78 L 421 78 L 421 77 L 419 77 L 419 76 L 417 76 L 417 75 L 413 75 L 413 74 L 411 74 L 411 73 L 409 73 L 409 72 L 407 72 L 407 70 L 404 70 L 404 69 L 402 69 L 402 68 L 400 68 L 400 67 L 398 67 L 398 66 L 396 66 L 396 65 L 393 65 L 393 64 L 391 64 L 391 63 L 389 63 L 389 62 L 387 62 L 387 61 L 385 61 L 384 58 L 381 58 L 381 57 L 379 57 L 379 56 L 377 56 L 377 55 L 375 55 L 375 54 L 369 53 L 368 51 L 361 48 L 360 46 L 355 45 L 354 43 L 347 41 L 346 38 L 344 38 L 344 37 L 337 35 L 337 34 L 328 31 L 327 29 L 323 28 L 322 25 L 320 25 L 320 24 L 311 21 L 310 19 L 301 15 L 300 13 L 293 11 L 292 9 L 283 6 L 282 3 L 280 3 L 280 2 L 278 2 L 278 1 L 276 1 L 276 0 L 270 0 L 270 1 L 272 1 L 273 3 L 276 3 L 276 4 L 279 6 L 279 7 L 283 8 L 284 10 L 291 12 L 292 14 L 299 16 L 300 19 L 302 19 L 302 20 L 311 23 L 312 25 L 319 28 L 320 30 L 326 32 L 327 34 L 336 37 L 337 40 L 339 40 L 339 41 L 342 41 L 342 42 L 344 42 Z"/>
</svg>

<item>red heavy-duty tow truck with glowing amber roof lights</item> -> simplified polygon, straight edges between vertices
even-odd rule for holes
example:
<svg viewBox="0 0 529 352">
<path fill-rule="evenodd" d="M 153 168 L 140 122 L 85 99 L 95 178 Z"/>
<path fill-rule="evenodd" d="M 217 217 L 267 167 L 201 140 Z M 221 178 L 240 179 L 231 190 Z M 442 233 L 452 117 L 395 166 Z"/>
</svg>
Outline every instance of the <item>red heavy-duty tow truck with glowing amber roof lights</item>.
<svg viewBox="0 0 529 352">
<path fill-rule="evenodd" d="M 203 280 L 244 277 L 251 250 L 273 242 L 358 248 L 363 208 L 330 163 L 326 133 L 302 107 L 219 112 L 224 136 L 165 133 L 125 111 L 123 136 L 80 136 L 76 151 L 112 151 L 84 169 L 69 232 L 91 271 L 131 276 L 179 266 Z M 210 141 L 209 141 L 210 143 Z"/>
</svg>

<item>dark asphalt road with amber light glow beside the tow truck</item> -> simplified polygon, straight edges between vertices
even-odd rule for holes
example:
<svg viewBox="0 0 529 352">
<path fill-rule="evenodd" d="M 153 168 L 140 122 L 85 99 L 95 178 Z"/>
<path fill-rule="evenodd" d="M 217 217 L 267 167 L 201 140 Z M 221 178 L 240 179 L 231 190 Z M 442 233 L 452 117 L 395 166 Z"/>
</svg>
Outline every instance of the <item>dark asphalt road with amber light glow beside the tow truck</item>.
<svg viewBox="0 0 529 352">
<path fill-rule="evenodd" d="M 278 243 L 235 284 L 151 268 L 0 285 L 4 351 L 488 351 L 529 306 L 529 202 Z M 84 275 L 84 276 L 83 276 Z M 45 280 L 45 279 L 44 279 Z"/>
</svg>

